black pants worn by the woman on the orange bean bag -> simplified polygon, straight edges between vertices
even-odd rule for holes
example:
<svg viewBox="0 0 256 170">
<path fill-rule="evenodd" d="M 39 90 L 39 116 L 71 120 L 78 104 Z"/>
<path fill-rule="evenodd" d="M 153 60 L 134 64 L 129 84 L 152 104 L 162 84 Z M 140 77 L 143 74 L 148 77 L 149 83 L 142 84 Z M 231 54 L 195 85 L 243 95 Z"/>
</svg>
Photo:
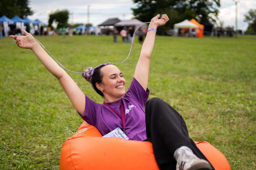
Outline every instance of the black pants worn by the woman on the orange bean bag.
<svg viewBox="0 0 256 170">
<path fill-rule="evenodd" d="M 148 137 L 145 141 L 152 142 L 155 159 L 160 169 L 176 169 L 177 162 L 173 154 L 181 146 L 187 146 L 198 158 L 207 160 L 194 141 L 189 138 L 183 117 L 172 106 L 162 99 L 152 98 L 147 101 L 145 112 Z"/>
</svg>

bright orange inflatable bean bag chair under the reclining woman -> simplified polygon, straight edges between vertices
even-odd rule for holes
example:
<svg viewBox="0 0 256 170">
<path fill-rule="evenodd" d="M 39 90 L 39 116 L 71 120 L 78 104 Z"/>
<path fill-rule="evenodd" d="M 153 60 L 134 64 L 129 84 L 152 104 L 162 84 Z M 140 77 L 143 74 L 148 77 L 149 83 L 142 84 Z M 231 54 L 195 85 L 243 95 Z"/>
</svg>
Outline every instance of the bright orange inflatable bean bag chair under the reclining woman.
<svg viewBox="0 0 256 170">
<path fill-rule="evenodd" d="M 206 141 L 195 142 L 216 170 L 231 170 L 225 156 Z M 151 142 L 103 138 L 85 121 L 66 140 L 60 154 L 60 170 L 159 169 Z"/>
</svg>

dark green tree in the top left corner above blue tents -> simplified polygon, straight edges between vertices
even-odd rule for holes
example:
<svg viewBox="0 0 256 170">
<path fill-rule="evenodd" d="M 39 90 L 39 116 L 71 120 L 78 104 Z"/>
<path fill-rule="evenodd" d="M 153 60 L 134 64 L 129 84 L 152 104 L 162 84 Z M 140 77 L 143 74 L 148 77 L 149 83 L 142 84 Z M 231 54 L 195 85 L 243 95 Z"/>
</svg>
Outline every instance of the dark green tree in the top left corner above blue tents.
<svg viewBox="0 0 256 170">
<path fill-rule="evenodd" d="M 20 18 L 33 15 L 33 11 L 28 6 L 29 0 L 1 0 L 0 1 L 0 16 L 5 15 L 12 18 L 15 15 Z"/>
</svg>

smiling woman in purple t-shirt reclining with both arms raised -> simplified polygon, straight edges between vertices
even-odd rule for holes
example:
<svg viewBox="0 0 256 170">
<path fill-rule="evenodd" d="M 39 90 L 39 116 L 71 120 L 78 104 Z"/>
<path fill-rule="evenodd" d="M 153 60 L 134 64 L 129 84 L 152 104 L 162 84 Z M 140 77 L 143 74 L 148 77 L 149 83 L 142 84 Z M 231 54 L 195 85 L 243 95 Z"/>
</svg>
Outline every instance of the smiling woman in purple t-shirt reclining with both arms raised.
<svg viewBox="0 0 256 170">
<path fill-rule="evenodd" d="M 89 72 L 82 74 L 93 89 L 104 97 L 103 104 L 85 96 L 31 34 L 24 30 L 26 36 L 10 37 L 16 40 L 20 48 L 33 50 L 42 64 L 59 80 L 80 116 L 97 127 L 102 135 L 120 127 L 129 140 L 151 141 L 160 169 L 212 169 L 211 164 L 189 138 L 182 116 L 159 98 L 147 101 L 150 93 L 147 89 L 150 56 L 156 28 L 165 25 L 169 20 L 165 14 L 161 19 L 159 17 L 158 14 L 152 18 L 149 24 L 134 78 L 127 92 L 123 74 L 114 65 L 102 64 L 97 69 L 89 68 Z"/>
</svg>

